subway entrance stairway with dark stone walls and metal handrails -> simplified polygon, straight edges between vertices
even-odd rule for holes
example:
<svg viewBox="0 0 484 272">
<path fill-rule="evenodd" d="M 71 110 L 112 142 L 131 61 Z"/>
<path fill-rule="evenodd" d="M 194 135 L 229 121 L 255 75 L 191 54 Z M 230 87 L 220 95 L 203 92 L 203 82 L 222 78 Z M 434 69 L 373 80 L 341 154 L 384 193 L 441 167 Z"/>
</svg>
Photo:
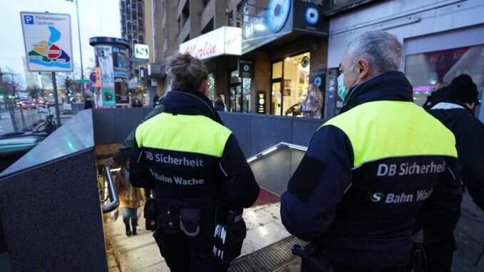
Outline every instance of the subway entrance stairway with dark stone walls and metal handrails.
<svg viewBox="0 0 484 272">
<path fill-rule="evenodd" d="M 151 233 L 141 228 L 137 236 L 126 237 L 121 218 L 109 221 L 109 213 L 103 212 L 116 200 L 101 203 L 106 193 L 96 182 L 103 173 L 100 160 L 116 150 L 148 111 L 81 111 L 0 173 L 0 271 L 167 271 Z M 290 250 L 303 242 L 281 225 L 279 196 L 323 120 L 235 113 L 221 117 L 261 186 L 255 205 L 244 212 L 248 234 L 243 256 L 231 263 L 230 271 L 299 271 L 300 261 Z M 484 271 L 483 229 L 484 213 L 465 193 L 455 229 L 454 272 Z"/>
</svg>

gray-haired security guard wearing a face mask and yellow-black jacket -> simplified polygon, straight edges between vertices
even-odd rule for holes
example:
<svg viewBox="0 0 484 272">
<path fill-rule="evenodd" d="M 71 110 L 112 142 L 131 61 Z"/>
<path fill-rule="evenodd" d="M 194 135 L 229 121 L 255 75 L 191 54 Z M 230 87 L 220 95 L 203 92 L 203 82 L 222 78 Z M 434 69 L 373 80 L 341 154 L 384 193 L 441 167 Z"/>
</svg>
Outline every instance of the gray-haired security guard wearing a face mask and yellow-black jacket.
<svg viewBox="0 0 484 272">
<path fill-rule="evenodd" d="M 453 134 L 413 104 L 398 71 L 402 50 L 393 35 L 372 31 L 343 54 L 345 106 L 316 131 L 281 196 L 283 225 L 311 241 L 301 271 L 321 271 L 324 260 L 335 272 L 417 271 L 411 231 L 420 206 L 459 209 Z"/>
</svg>

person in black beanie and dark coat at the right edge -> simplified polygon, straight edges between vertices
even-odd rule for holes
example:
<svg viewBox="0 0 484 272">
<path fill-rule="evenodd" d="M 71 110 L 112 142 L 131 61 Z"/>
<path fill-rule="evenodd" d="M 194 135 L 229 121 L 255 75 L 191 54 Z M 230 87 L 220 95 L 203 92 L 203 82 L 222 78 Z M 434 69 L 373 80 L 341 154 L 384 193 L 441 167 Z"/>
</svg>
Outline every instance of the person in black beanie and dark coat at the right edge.
<svg viewBox="0 0 484 272">
<path fill-rule="evenodd" d="M 472 113 L 479 103 L 477 86 L 470 76 L 462 74 L 440 90 L 443 90 L 440 102 L 428 109 L 428 113 L 453 132 L 462 182 L 474 203 L 484 209 L 484 124 Z M 448 272 L 455 251 L 453 231 L 460 212 L 442 213 L 437 217 L 428 216 L 429 213 L 420 211 L 414 232 L 423 228 L 423 240 L 433 260 L 429 272 Z"/>
</svg>

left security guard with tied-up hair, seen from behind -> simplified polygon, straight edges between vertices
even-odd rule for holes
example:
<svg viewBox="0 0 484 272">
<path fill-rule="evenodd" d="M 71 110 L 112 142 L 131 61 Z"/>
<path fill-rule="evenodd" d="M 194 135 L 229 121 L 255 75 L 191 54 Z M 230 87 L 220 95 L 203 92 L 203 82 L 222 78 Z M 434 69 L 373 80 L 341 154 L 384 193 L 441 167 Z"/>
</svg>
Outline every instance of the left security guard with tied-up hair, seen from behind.
<svg viewBox="0 0 484 272">
<path fill-rule="evenodd" d="M 238 146 L 206 97 L 207 71 L 190 54 L 168 60 L 172 91 L 163 113 L 136 129 L 133 186 L 154 188 L 161 254 L 171 271 L 226 271 L 211 256 L 216 208 L 250 207 L 259 188 Z"/>
</svg>

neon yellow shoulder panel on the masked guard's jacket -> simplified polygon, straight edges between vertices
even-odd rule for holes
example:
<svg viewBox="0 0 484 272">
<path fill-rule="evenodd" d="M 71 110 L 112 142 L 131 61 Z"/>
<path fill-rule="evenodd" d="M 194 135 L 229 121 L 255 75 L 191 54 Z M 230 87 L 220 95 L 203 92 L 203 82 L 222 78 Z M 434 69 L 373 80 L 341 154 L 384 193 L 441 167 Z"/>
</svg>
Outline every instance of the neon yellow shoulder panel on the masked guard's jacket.
<svg viewBox="0 0 484 272">
<path fill-rule="evenodd" d="M 457 157 L 452 132 L 412 102 L 368 102 L 323 124 L 329 125 L 338 127 L 350 139 L 355 168 L 395 156 Z"/>
</svg>

